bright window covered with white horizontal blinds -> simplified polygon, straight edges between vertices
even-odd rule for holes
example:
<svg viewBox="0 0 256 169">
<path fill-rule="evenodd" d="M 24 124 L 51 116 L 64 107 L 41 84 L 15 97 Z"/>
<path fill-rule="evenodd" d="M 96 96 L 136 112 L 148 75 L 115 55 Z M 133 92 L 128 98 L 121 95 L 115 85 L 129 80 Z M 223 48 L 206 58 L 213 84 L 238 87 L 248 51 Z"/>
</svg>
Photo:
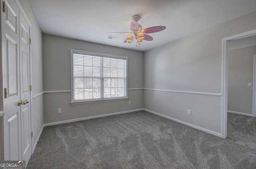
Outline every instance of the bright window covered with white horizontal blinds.
<svg viewBox="0 0 256 169">
<path fill-rule="evenodd" d="M 127 57 L 71 49 L 72 102 L 127 99 Z"/>
</svg>

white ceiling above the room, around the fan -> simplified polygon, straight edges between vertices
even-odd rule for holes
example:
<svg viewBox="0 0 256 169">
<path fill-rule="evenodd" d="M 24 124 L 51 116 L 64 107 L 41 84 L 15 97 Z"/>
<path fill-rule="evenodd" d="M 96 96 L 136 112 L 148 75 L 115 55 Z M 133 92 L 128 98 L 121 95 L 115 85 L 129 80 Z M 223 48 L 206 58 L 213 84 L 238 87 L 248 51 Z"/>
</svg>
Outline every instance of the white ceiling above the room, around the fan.
<svg viewBox="0 0 256 169">
<path fill-rule="evenodd" d="M 137 51 L 186 37 L 256 11 L 256 0 L 28 0 L 43 33 Z M 142 28 L 166 26 L 148 35 L 153 41 L 123 43 L 108 32 L 129 32 L 129 20 L 139 15 Z"/>
</svg>

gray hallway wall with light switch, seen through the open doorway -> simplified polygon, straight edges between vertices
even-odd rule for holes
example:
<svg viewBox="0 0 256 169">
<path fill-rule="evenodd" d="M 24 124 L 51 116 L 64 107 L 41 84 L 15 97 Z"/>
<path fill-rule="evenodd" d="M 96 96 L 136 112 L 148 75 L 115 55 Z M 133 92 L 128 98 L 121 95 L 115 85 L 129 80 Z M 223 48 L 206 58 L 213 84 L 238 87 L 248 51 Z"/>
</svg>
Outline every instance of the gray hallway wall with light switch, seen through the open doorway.
<svg viewBox="0 0 256 169">
<path fill-rule="evenodd" d="M 254 55 L 256 46 L 228 51 L 228 110 L 252 114 Z"/>
</svg>

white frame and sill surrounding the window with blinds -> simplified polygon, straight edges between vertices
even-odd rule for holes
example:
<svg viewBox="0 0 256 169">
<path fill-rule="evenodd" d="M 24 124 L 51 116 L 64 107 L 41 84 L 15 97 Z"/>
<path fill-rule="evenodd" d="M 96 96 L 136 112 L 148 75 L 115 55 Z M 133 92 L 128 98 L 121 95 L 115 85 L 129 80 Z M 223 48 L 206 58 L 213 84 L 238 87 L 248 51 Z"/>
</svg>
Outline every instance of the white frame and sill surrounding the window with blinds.
<svg viewBox="0 0 256 169">
<path fill-rule="evenodd" d="M 125 84 L 125 96 L 124 97 L 114 97 L 114 98 L 100 98 L 100 99 L 86 99 L 86 100 L 74 100 L 74 53 L 81 53 L 83 55 L 93 55 L 99 57 L 112 57 L 112 58 L 122 58 L 126 59 L 126 84 Z M 128 57 L 126 56 L 118 56 L 118 55 L 110 55 L 105 53 L 96 53 L 90 51 L 82 51 L 76 49 L 70 49 L 71 56 L 71 104 L 84 104 L 84 103 L 94 103 L 94 102 L 108 102 L 108 101 L 116 101 L 116 100 L 127 100 L 128 99 Z"/>
</svg>

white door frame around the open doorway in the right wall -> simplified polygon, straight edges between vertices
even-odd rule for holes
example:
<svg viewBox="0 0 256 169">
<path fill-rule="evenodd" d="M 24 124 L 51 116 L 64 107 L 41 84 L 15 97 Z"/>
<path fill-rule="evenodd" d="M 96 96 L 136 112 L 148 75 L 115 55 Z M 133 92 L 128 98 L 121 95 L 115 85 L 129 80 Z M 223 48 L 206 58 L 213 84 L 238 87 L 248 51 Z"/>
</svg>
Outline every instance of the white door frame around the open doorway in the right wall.
<svg viewBox="0 0 256 169">
<path fill-rule="evenodd" d="M 228 128 L 228 41 L 256 35 L 256 29 L 222 38 L 222 112 L 221 137 L 227 138 Z"/>
</svg>

